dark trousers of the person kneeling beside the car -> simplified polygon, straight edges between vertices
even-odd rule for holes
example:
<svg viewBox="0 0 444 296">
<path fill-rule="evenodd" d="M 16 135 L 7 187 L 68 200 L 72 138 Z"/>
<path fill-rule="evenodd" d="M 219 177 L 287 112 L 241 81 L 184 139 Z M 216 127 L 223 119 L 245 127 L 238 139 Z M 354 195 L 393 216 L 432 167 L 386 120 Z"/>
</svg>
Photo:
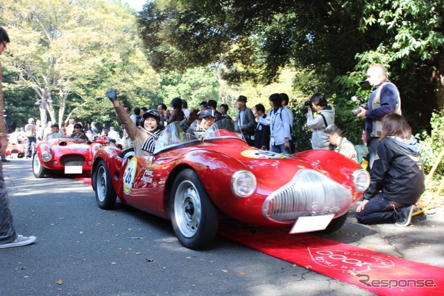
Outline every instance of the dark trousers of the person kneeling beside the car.
<svg viewBox="0 0 444 296">
<path fill-rule="evenodd" d="M 400 220 L 398 208 L 402 206 L 409 205 L 396 204 L 384 199 L 380 194 L 375 195 L 364 206 L 364 210 L 356 213 L 356 219 L 361 224 L 394 223 Z"/>
</svg>

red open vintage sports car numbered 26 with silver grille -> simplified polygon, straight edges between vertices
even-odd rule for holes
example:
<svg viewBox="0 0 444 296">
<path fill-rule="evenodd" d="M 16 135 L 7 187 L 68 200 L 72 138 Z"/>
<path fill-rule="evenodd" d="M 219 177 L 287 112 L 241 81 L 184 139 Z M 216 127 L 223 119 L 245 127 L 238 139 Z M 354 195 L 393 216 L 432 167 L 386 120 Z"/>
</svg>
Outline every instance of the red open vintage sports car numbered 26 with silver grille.
<svg viewBox="0 0 444 296">
<path fill-rule="evenodd" d="M 255 226 L 293 224 L 291 233 L 336 231 L 368 188 L 368 172 L 339 153 L 255 149 L 221 122 L 187 133 L 169 124 L 153 156 L 99 149 L 92 166 L 99 207 L 110 209 L 119 197 L 171 220 L 180 243 L 200 249 L 214 240 L 219 215 Z"/>
</svg>

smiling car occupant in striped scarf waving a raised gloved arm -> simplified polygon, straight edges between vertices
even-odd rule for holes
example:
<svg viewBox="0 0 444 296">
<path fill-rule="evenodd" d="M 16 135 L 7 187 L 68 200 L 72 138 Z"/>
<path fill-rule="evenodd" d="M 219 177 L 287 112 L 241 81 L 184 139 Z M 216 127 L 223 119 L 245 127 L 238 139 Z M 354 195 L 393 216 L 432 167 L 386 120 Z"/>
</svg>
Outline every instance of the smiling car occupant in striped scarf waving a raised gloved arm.
<svg viewBox="0 0 444 296">
<path fill-rule="evenodd" d="M 136 126 L 128 113 L 117 100 L 117 90 L 108 90 L 106 96 L 116 109 L 117 115 L 125 126 L 131 140 L 133 140 L 136 156 L 150 156 L 153 154 L 155 142 L 159 138 L 163 124 L 160 124 L 160 115 L 156 110 L 148 110 L 144 113 L 140 125 Z M 181 102 L 182 104 L 182 102 Z"/>
</svg>

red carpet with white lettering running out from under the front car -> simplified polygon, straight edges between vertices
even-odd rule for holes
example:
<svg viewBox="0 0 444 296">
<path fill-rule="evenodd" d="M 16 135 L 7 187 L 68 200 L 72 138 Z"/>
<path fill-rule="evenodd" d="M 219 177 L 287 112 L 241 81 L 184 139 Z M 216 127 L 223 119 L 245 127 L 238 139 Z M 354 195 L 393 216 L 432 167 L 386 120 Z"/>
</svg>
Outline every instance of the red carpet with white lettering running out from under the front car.
<svg viewBox="0 0 444 296">
<path fill-rule="evenodd" d="M 444 268 L 416 263 L 280 227 L 253 233 L 221 225 L 219 234 L 264 254 L 379 295 L 431 295 L 444 290 Z M 441 291 L 441 293 L 439 292 Z"/>
</svg>

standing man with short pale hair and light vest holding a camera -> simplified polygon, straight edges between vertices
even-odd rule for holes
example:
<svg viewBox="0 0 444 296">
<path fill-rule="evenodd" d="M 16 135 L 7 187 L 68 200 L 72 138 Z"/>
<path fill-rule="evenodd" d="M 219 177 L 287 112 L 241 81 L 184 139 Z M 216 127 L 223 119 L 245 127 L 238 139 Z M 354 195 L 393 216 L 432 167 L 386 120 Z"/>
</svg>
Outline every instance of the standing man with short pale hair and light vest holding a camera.
<svg viewBox="0 0 444 296">
<path fill-rule="evenodd" d="M 357 116 L 364 118 L 364 131 L 369 151 L 368 164 L 371 168 L 375 161 L 377 141 L 382 135 L 382 117 L 391 113 L 401 115 L 401 98 L 396 85 L 387 79 L 386 69 L 383 65 L 371 65 L 367 70 L 367 81 L 375 87 L 375 90 L 370 94 L 368 110 L 359 106 L 361 112 Z"/>
</svg>

